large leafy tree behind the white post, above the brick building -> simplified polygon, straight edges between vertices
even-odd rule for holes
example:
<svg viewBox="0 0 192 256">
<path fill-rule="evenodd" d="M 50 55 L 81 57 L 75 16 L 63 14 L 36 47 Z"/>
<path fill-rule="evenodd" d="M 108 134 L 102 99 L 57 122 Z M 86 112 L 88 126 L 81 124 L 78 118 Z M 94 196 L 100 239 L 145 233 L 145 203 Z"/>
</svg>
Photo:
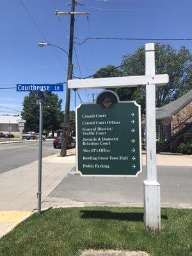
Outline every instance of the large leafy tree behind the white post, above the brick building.
<svg viewBox="0 0 192 256">
<path fill-rule="evenodd" d="M 170 82 L 166 86 L 156 88 L 156 107 L 161 107 L 178 97 L 184 95 L 192 88 L 192 55 L 186 47 L 180 47 L 177 51 L 170 44 L 155 45 L 156 49 L 156 74 L 168 74 Z M 133 54 L 123 56 L 121 76 L 145 75 L 145 49 L 138 48 Z M 109 68 L 100 68 L 97 77 L 106 77 Z M 114 67 L 115 68 L 115 67 Z M 106 70 L 106 72 L 105 72 Z M 94 76 L 95 77 L 95 76 Z M 111 77 L 111 76 L 109 76 Z M 138 84 L 139 85 L 139 84 Z M 116 88 L 115 92 L 120 100 L 136 100 L 141 104 L 141 110 L 145 109 L 145 86 L 137 88 Z"/>
</svg>

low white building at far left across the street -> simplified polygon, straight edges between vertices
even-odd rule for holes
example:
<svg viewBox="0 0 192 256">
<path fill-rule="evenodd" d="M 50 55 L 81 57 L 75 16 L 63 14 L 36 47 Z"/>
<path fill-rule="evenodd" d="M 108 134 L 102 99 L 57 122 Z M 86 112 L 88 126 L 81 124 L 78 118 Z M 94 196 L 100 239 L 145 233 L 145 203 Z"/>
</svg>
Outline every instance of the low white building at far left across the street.
<svg viewBox="0 0 192 256">
<path fill-rule="evenodd" d="M 15 135 L 15 137 L 19 137 L 19 124 L 17 120 L 22 120 L 21 116 L 0 115 L 0 132 L 6 134 L 9 132 L 8 127 L 12 127 L 10 132 Z"/>
</svg>

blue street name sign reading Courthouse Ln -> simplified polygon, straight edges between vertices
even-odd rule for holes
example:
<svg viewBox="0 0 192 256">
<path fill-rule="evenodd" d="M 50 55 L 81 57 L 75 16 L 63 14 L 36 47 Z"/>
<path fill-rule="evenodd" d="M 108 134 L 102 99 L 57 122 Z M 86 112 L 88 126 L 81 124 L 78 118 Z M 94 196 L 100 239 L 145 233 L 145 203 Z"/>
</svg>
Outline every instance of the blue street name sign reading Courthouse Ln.
<svg viewBox="0 0 192 256">
<path fill-rule="evenodd" d="M 17 92 L 63 92 L 63 84 L 17 84 Z"/>
</svg>

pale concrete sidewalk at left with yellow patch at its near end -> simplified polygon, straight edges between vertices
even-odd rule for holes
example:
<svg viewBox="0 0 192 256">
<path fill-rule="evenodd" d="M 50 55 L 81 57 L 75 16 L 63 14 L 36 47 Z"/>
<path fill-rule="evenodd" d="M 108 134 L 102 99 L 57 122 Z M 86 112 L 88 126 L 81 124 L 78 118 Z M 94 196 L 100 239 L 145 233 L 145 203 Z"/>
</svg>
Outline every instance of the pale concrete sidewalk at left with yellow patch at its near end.
<svg viewBox="0 0 192 256">
<path fill-rule="evenodd" d="M 74 148 L 67 157 L 45 157 L 42 163 L 42 202 L 75 165 Z M 38 161 L 0 174 L 0 237 L 24 220 L 37 205 Z"/>
</svg>

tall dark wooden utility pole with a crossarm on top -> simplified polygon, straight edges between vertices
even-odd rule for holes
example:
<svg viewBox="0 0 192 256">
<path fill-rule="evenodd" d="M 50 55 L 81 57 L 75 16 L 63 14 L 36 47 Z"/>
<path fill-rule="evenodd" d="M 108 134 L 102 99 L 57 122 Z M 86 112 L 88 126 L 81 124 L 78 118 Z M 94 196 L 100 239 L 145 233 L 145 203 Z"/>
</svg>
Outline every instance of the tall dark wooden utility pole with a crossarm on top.
<svg viewBox="0 0 192 256">
<path fill-rule="evenodd" d="M 68 49 L 68 67 L 67 67 L 67 81 L 72 79 L 72 56 L 74 47 L 74 21 L 75 15 L 86 15 L 88 12 L 75 12 L 75 6 L 77 0 L 71 0 L 71 12 L 59 12 L 55 11 L 56 15 L 70 15 L 70 37 L 69 37 L 69 49 Z M 65 101 L 65 113 L 64 113 L 64 124 L 63 124 L 63 139 L 61 142 L 61 153 L 60 156 L 67 156 L 67 136 L 68 136 L 68 121 L 69 121 L 69 109 L 70 109 L 70 89 L 66 87 L 66 101 Z"/>
</svg>

